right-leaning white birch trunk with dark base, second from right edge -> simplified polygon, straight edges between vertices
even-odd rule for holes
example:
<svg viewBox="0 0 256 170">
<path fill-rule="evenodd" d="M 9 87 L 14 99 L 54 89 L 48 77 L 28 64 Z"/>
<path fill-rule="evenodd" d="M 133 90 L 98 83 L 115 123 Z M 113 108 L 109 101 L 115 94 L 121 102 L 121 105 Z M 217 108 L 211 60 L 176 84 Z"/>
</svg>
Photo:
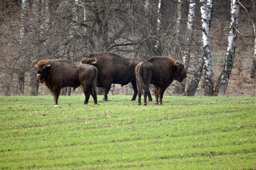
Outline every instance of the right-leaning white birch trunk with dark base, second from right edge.
<svg viewBox="0 0 256 170">
<path fill-rule="evenodd" d="M 239 2 L 239 0 L 231 1 L 231 18 L 228 32 L 227 52 L 223 64 L 223 70 L 218 78 L 218 83 L 214 90 L 214 96 L 224 95 L 226 93 L 228 81 L 233 67 L 239 17 L 239 4 L 237 2 Z"/>
</svg>

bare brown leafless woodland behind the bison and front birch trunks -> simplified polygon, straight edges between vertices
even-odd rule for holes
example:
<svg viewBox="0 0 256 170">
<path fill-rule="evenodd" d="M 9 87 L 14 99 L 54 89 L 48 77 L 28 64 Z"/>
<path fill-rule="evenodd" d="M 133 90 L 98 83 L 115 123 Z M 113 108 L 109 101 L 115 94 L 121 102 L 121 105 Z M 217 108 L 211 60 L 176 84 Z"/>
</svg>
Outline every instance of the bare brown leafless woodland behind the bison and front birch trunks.
<svg viewBox="0 0 256 170">
<path fill-rule="evenodd" d="M 191 3 L 196 3 L 195 17 L 193 31 L 188 31 Z M 209 37 L 214 87 L 227 51 L 230 4 L 230 0 L 213 0 Z M 240 1 L 234 64 L 225 93 L 218 95 L 256 95 L 255 5 L 254 0 Z M 99 51 L 144 59 L 171 56 L 181 60 L 189 55 L 184 84 L 172 83 L 165 95 L 213 95 L 206 93 L 205 68 L 197 74 L 200 65 L 205 66 L 199 62 L 204 32 L 201 6 L 199 0 L 0 0 L 0 95 L 50 94 L 36 78 L 34 60 L 81 62 Z M 199 85 L 188 94 L 194 76 Z M 132 93 L 131 85 L 112 85 L 110 90 L 110 95 Z M 82 90 L 62 90 L 62 95 L 74 94 Z"/>
</svg>

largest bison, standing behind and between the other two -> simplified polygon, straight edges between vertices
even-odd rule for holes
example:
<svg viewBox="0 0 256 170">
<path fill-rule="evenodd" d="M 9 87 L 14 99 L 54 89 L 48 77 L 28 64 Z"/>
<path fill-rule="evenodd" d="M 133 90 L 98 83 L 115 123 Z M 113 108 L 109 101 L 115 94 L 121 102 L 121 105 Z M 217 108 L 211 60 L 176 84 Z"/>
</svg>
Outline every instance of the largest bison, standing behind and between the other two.
<svg viewBox="0 0 256 170">
<path fill-rule="evenodd" d="M 82 63 L 93 64 L 98 68 L 97 87 L 102 87 L 104 91 L 103 100 L 108 99 L 108 92 L 111 84 L 127 85 L 131 82 L 134 93 L 132 101 L 138 94 L 135 76 L 135 66 L 144 61 L 141 58 L 125 58 L 115 53 L 98 52 L 90 54 L 88 58 L 83 58 Z M 97 63 L 97 64 L 96 64 Z M 152 101 L 148 91 L 148 99 Z"/>
</svg>

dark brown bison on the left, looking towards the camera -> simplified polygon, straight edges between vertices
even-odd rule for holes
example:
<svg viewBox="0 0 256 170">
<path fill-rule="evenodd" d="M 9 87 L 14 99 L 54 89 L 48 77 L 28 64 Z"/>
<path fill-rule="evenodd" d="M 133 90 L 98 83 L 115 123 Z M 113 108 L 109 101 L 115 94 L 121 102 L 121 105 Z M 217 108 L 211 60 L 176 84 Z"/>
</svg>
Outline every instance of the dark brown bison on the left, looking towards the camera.
<svg viewBox="0 0 256 170">
<path fill-rule="evenodd" d="M 98 70 L 88 64 L 72 63 L 68 60 L 40 60 L 32 64 L 37 69 L 37 78 L 44 83 L 53 93 L 54 105 L 58 105 L 58 98 L 61 88 L 82 85 L 85 95 L 84 104 L 88 103 L 90 94 L 94 104 L 97 104 L 96 81 Z"/>
</svg>

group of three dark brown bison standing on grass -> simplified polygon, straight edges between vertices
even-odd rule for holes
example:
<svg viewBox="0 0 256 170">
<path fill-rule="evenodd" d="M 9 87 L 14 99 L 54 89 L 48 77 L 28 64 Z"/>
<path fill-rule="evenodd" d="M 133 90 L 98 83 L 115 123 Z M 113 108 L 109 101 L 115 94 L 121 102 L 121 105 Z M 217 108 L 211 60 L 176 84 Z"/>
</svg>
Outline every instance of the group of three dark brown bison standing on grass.
<svg viewBox="0 0 256 170">
<path fill-rule="evenodd" d="M 98 52 L 82 59 L 82 64 L 68 60 L 40 60 L 32 64 L 37 69 L 37 78 L 53 93 L 54 105 L 58 105 L 58 98 L 63 87 L 83 87 L 85 100 L 88 103 L 92 95 L 97 104 L 96 86 L 104 91 L 103 100 L 108 100 L 111 84 L 127 85 L 131 82 L 134 90 L 132 101 L 138 95 L 141 104 L 141 94 L 144 95 L 144 105 L 152 101 L 149 85 L 153 84 L 156 98 L 155 104 L 162 104 L 166 88 L 173 80 L 181 82 L 187 77 L 184 64 L 168 56 L 154 56 L 148 60 L 141 58 L 125 58 L 115 53 Z M 159 99 L 159 101 L 158 101 Z"/>
</svg>

